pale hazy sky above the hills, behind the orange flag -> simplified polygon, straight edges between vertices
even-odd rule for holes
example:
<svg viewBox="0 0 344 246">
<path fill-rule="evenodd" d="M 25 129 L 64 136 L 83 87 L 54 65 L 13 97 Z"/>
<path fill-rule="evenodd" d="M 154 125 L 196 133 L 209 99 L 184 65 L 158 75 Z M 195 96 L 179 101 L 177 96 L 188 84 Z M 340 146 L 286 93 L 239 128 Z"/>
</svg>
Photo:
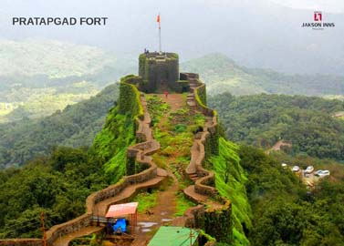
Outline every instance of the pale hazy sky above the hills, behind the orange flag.
<svg viewBox="0 0 344 246">
<path fill-rule="evenodd" d="M 343 0 L 2 0 L 0 38 L 49 38 L 99 46 L 117 56 L 162 49 L 182 60 L 222 53 L 246 67 L 344 74 Z M 315 31 L 314 11 L 336 24 Z M 107 26 L 12 26 L 14 16 L 107 16 Z"/>
</svg>

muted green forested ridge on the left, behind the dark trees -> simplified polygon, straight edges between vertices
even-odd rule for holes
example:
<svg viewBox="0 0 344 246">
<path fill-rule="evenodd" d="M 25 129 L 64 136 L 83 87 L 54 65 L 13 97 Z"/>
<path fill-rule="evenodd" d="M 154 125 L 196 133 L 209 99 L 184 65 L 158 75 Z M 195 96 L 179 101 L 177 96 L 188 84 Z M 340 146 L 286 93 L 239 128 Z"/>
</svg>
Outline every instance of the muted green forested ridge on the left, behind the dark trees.
<svg viewBox="0 0 344 246">
<path fill-rule="evenodd" d="M 96 97 L 49 117 L 0 124 L 0 169 L 21 166 L 36 156 L 47 155 L 55 146 L 89 146 L 118 93 L 118 85 L 111 85 Z"/>
</svg>

